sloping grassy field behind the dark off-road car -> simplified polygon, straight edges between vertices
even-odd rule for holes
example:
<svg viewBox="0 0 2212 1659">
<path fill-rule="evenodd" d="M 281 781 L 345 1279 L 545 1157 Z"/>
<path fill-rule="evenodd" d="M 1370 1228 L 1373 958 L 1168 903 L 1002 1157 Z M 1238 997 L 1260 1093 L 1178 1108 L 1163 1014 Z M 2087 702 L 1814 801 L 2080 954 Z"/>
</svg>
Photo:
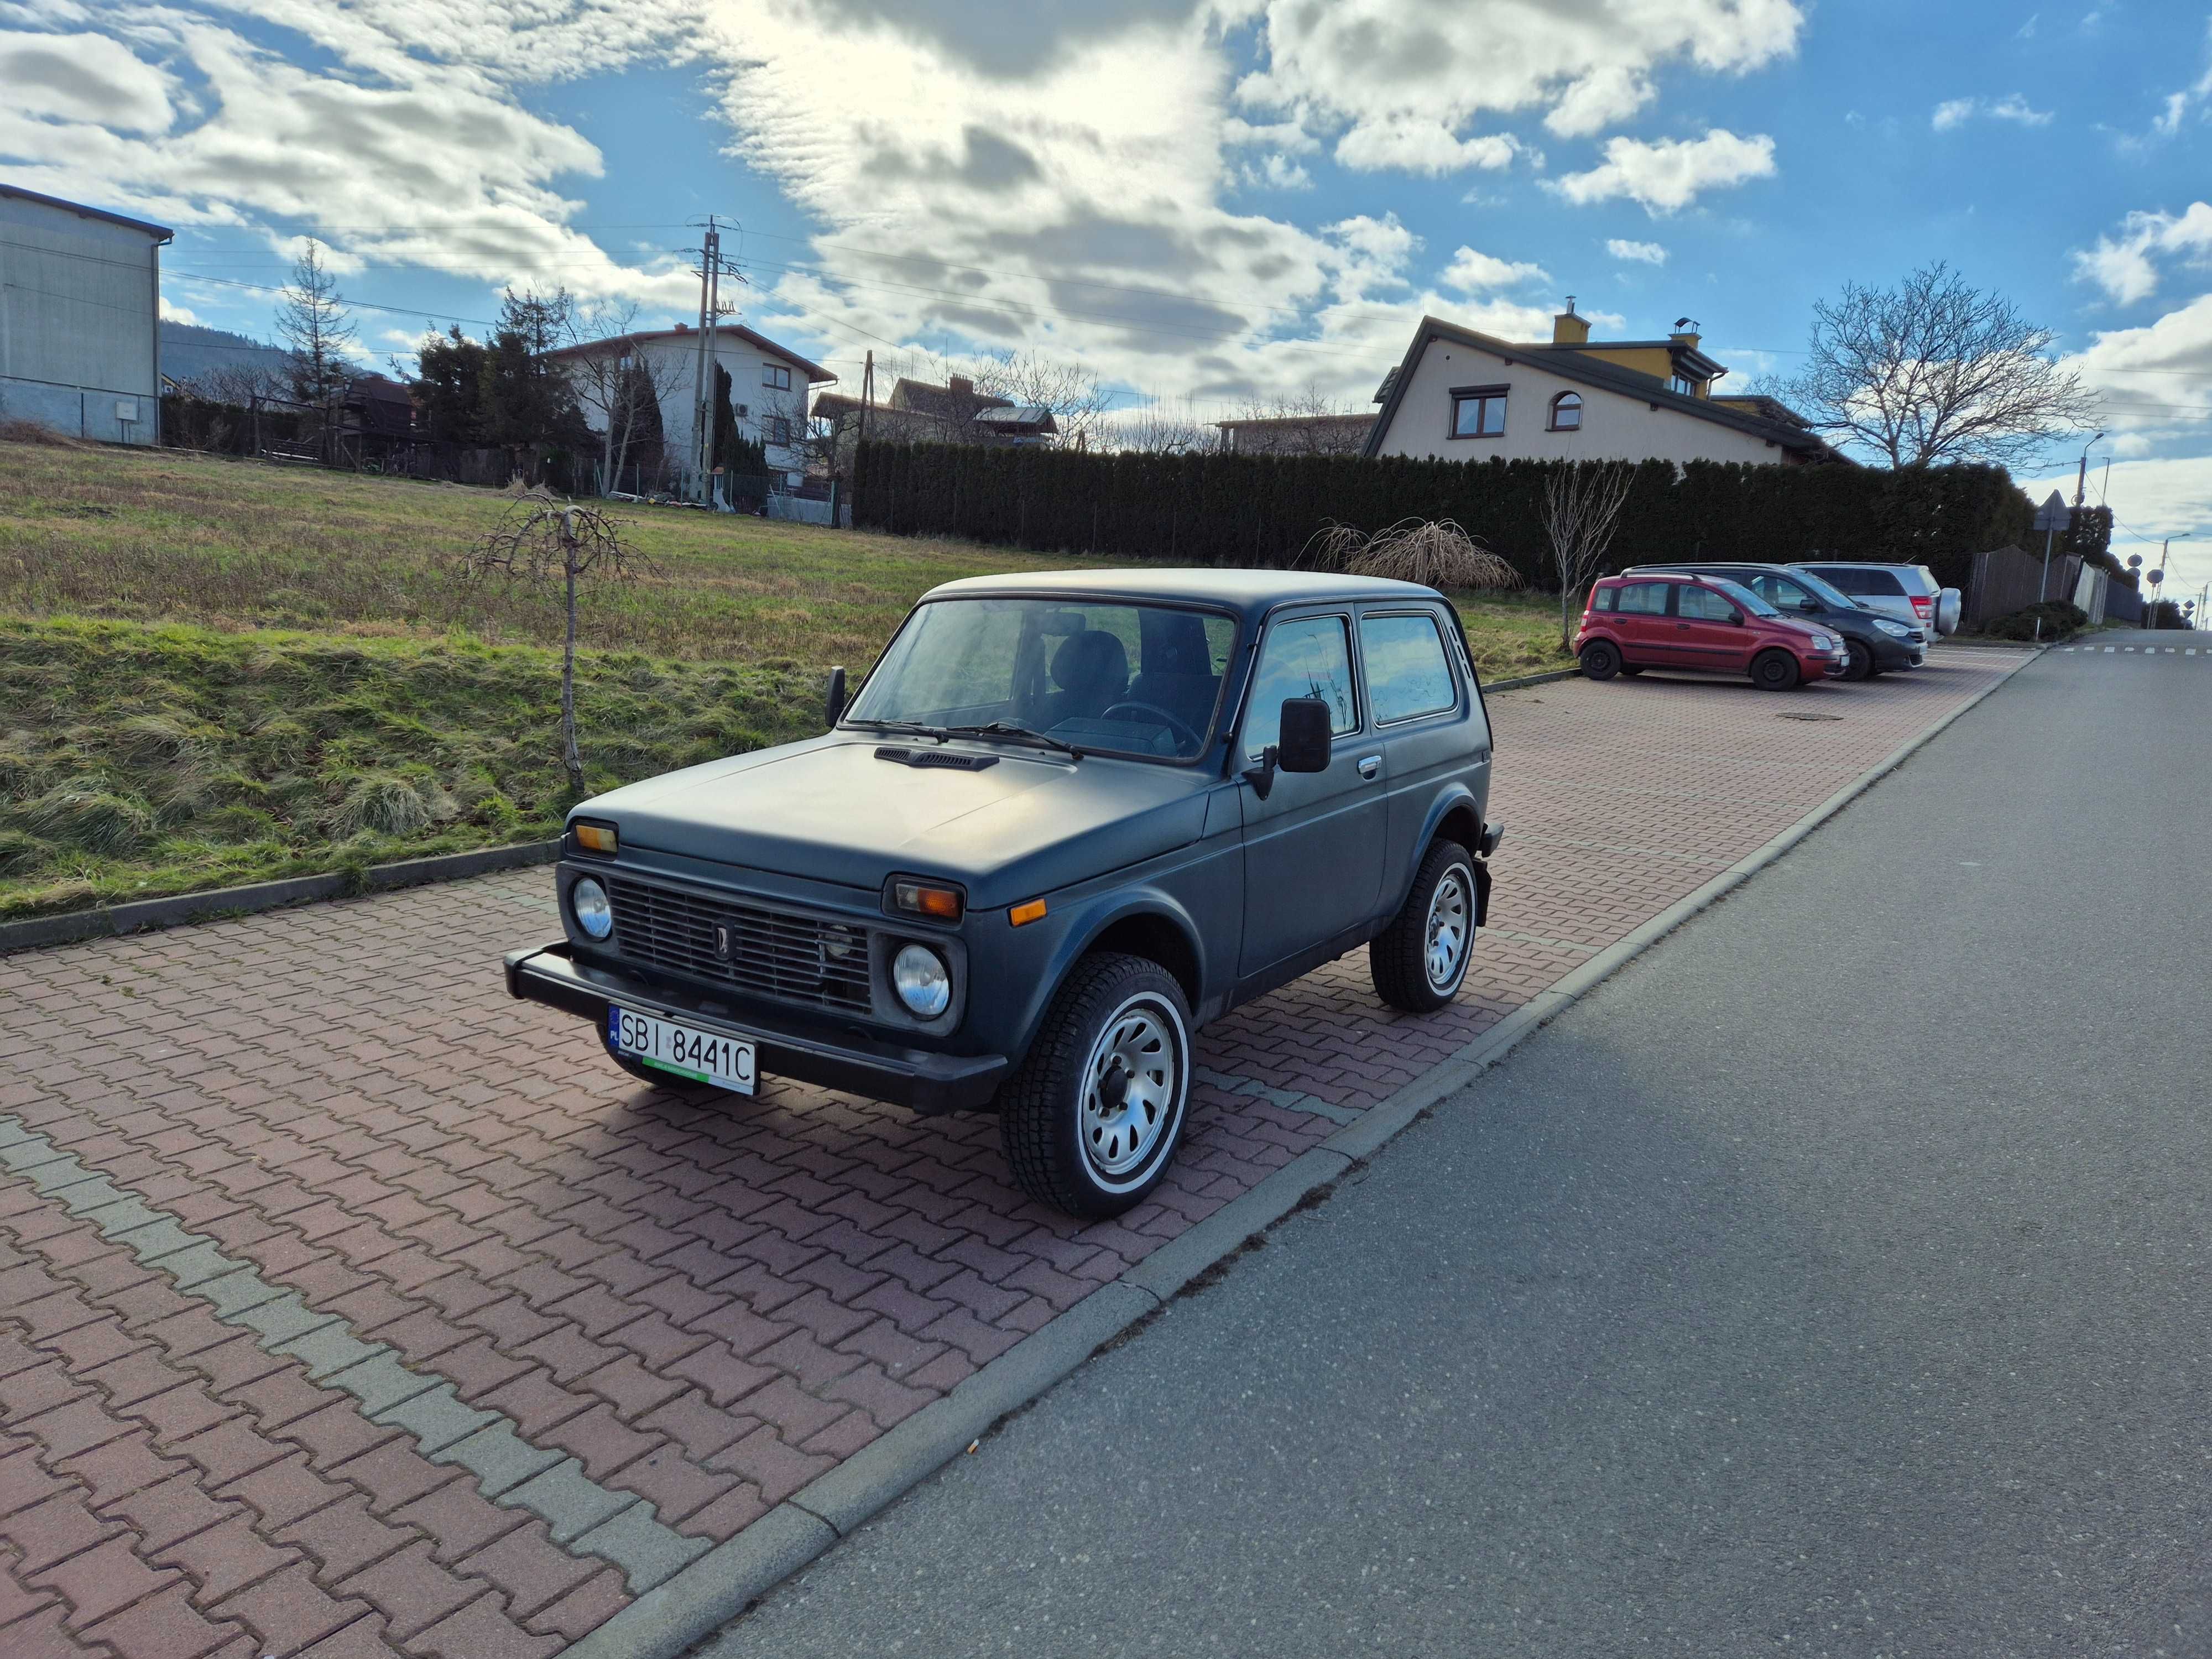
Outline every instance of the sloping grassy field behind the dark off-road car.
<svg viewBox="0 0 2212 1659">
<path fill-rule="evenodd" d="M 551 595 L 453 575 L 491 491 L 0 442 L 0 918 L 535 841 L 568 805 Z M 1075 568 L 626 509 L 653 571 L 586 588 L 593 790 L 818 730 L 938 582 Z M 1455 595 L 1484 675 L 1557 602 Z"/>
</svg>

